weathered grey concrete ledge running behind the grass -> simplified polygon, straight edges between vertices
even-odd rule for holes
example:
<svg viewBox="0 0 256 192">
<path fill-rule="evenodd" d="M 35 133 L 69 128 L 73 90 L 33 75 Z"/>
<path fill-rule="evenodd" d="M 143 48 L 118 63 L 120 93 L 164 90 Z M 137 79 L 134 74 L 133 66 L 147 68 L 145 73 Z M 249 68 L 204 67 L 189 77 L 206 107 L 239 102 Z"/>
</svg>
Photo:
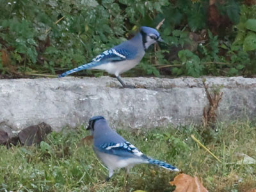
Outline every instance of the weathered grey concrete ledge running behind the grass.
<svg viewBox="0 0 256 192">
<path fill-rule="evenodd" d="M 140 88 L 120 88 L 115 78 L 2 79 L 0 129 L 16 131 L 45 122 L 52 129 L 76 127 L 103 115 L 113 127 L 151 128 L 200 123 L 209 104 L 202 79 L 124 78 Z M 220 120 L 255 118 L 256 79 L 206 77 L 223 86 Z"/>
</svg>

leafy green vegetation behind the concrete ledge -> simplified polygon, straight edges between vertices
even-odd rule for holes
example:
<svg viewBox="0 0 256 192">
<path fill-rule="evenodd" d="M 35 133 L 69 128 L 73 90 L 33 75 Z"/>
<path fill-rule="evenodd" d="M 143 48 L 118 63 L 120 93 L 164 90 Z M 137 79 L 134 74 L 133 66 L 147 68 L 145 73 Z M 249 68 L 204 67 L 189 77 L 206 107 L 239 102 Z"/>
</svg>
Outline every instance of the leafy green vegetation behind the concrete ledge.
<svg viewBox="0 0 256 192">
<path fill-rule="evenodd" d="M 0 72 L 4 77 L 60 74 L 130 38 L 140 26 L 155 28 L 165 19 L 159 31 L 168 45 L 152 47 L 126 76 L 252 77 L 255 4 L 252 0 L 0 0 Z"/>
</svg>

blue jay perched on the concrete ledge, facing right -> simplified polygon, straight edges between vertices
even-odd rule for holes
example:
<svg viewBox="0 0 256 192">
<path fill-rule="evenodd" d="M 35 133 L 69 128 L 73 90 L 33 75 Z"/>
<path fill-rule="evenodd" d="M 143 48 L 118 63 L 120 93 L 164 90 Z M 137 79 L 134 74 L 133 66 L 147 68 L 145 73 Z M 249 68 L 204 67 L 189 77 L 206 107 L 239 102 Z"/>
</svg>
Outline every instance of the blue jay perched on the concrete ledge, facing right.
<svg viewBox="0 0 256 192">
<path fill-rule="evenodd" d="M 90 63 L 68 70 L 59 75 L 59 77 L 65 77 L 85 69 L 100 69 L 115 75 L 124 88 L 129 88 L 131 86 L 125 85 L 120 78 L 120 74 L 138 65 L 145 54 L 145 50 L 157 41 L 163 42 L 156 29 L 141 27 L 140 32 L 131 40 L 122 42 L 112 49 L 102 52 Z"/>
</svg>

